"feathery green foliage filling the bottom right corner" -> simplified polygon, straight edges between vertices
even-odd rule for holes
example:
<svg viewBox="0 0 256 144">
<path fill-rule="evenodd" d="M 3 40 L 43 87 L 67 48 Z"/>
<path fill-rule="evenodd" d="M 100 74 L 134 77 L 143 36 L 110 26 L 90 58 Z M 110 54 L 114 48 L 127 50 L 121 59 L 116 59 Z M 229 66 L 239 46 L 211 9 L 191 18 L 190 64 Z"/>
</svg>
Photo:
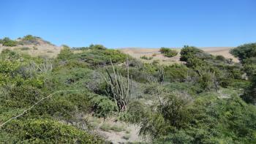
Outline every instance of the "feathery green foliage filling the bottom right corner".
<svg viewBox="0 0 256 144">
<path fill-rule="evenodd" d="M 190 110 L 189 110 L 190 111 Z M 252 143 L 255 141 L 255 107 L 246 105 L 238 96 L 216 99 L 204 96 L 197 99 L 190 113 L 195 116 L 187 134 L 192 143 Z"/>
</svg>

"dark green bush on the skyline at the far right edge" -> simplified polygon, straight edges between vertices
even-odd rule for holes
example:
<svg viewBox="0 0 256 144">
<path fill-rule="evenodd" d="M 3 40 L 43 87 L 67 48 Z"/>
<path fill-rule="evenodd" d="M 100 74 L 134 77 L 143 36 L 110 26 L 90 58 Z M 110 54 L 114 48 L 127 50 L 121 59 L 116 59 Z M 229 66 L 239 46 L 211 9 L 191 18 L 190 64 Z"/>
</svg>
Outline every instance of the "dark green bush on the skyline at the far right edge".
<svg viewBox="0 0 256 144">
<path fill-rule="evenodd" d="M 256 43 L 240 45 L 230 50 L 230 53 L 239 58 L 241 62 L 244 62 L 246 58 L 256 57 Z"/>
</svg>

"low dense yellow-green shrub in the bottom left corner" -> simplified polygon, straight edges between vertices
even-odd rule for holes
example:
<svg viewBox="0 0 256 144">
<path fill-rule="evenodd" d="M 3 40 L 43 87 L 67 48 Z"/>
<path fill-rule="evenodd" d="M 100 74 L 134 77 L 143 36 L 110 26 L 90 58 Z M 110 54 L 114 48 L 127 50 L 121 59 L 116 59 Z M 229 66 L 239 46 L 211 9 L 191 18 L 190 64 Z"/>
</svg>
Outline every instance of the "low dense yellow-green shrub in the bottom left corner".
<svg viewBox="0 0 256 144">
<path fill-rule="evenodd" d="M 50 119 L 14 121 L 4 130 L 17 137 L 17 141 L 13 140 L 12 143 L 103 143 L 99 137 Z M 8 139 L 0 140 L 7 143 Z"/>
</svg>

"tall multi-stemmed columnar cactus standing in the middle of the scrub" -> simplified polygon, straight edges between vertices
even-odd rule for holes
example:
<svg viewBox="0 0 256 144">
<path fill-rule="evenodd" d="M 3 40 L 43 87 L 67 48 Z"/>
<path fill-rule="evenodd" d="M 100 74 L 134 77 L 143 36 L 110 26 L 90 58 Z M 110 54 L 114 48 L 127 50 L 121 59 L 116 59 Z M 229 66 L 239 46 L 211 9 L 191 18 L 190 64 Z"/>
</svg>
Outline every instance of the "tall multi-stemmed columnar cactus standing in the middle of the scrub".
<svg viewBox="0 0 256 144">
<path fill-rule="evenodd" d="M 127 109 L 129 104 L 129 98 L 131 96 L 132 80 L 129 78 L 129 63 L 128 59 L 126 62 L 127 67 L 127 80 L 121 76 L 120 72 L 115 69 L 112 61 L 110 60 L 113 76 L 110 75 L 108 69 L 106 69 L 107 77 L 103 76 L 105 82 L 108 84 L 108 93 L 113 96 L 113 99 L 118 106 L 119 111 L 124 111 Z"/>
</svg>

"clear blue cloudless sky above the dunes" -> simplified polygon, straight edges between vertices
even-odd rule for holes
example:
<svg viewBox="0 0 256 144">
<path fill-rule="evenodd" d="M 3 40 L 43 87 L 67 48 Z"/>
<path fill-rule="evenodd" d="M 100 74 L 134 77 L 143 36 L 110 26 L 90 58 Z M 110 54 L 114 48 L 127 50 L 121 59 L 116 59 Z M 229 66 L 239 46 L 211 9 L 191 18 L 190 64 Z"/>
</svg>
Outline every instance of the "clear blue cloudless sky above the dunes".
<svg viewBox="0 0 256 144">
<path fill-rule="evenodd" d="M 0 37 L 71 47 L 237 46 L 256 42 L 255 0 L 0 0 Z"/>
</svg>

